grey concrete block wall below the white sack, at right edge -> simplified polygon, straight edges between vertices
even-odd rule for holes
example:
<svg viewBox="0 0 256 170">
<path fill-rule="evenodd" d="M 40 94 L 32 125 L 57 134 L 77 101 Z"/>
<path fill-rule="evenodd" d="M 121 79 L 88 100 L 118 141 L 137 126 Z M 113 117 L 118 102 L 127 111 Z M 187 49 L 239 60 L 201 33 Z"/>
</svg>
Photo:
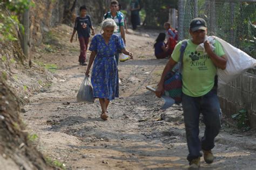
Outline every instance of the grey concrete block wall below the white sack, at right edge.
<svg viewBox="0 0 256 170">
<path fill-rule="evenodd" d="M 256 128 L 256 75 L 245 73 L 219 89 L 221 110 L 231 116 L 241 109 L 248 111 L 252 128 Z"/>
</svg>

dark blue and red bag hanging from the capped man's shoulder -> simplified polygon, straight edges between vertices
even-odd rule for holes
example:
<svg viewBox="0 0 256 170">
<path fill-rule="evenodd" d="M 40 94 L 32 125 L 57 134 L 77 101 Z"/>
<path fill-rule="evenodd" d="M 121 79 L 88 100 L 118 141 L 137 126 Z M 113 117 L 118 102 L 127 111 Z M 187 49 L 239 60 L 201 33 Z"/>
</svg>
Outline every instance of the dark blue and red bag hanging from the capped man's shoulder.
<svg viewBox="0 0 256 170">
<path fill-rule="evenodd" d="M 180 47 L 179 62 L 174 69 L 164 77 L 164 90 L 165 95 L 174 99 L 176 104 L 181 103 L 182 96 L 182 75 L 181 69 L 183 65 L 183 55 L 187 46 L 187 40 L 184 40 Z"/>
</svg>

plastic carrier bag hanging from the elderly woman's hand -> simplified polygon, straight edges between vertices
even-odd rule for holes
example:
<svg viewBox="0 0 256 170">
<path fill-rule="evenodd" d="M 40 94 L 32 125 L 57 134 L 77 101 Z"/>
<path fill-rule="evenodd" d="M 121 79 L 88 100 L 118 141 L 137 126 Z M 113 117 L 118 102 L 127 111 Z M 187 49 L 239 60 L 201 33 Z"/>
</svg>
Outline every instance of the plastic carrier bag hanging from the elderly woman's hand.
<svg viewBox="0 0 256 170">
<path fill-rule="evenodd" d="M 91 79 L 85 76 L 77 94 L 77 102 L 94 102 Z"/>
</svg>

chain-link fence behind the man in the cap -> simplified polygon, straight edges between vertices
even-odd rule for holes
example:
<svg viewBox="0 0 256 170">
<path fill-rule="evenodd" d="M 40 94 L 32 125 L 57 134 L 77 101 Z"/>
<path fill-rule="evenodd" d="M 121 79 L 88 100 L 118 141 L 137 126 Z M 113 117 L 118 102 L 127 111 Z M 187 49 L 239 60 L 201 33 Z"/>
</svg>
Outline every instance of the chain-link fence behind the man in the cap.
<svg viewBox="0 0 256 170">
<path fill-rule="evenodd" d="M 188 39 L 191 19 L 204 18 L 208 35 L 217 36 L 256 59 L 256 0 L 180 0 L 179 39 Z M 249 70 L 256 75 L 255 70 Z"/>
</svg>

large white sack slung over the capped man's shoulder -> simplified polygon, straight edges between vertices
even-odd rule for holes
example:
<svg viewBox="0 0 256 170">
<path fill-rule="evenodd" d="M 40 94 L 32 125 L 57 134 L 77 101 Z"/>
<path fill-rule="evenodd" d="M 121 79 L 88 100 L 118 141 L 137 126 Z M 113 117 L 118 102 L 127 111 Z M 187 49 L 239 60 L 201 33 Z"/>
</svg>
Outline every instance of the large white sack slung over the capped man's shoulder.
<svg viewBox="0 0 256 170">
<path fill-rule="evenodd" d="M 218 75 L 218 88 L 223 87 L 225 84 L 230 83 L 237 76 L 245 73 L 247 69 L 256 67 L 256 60 L 253 59 L 250 55 L 241 51 L 240 49 L 232 46 L 228 42 L 224 41 L 215 36 L 207 37 L 207 40 L 210 41 L 210 44 L 214 44 L 216 39 L 223 46 L 225 56 L 227 59 L 226 69 L 217 69 Z M 205 51 L 204 44 L 200 44 L 197 47 L 199 50 Z"/>
</svg>

